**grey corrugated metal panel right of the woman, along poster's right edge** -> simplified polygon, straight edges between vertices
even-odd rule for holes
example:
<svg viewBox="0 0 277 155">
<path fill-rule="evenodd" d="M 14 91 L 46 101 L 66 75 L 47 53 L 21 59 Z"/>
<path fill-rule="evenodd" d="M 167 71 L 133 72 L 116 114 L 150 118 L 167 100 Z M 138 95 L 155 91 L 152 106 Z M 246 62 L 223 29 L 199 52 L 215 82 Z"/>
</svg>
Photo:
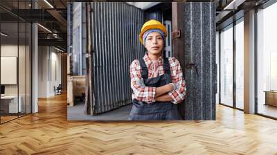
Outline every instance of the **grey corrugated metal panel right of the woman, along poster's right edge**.
<svg viewBox="0 0 277 155">
<path fill-rule="evenodd" d="M 184 4 L 184 35 L 185 119 L 215 120 L 215 3 Z"/>
</svg>

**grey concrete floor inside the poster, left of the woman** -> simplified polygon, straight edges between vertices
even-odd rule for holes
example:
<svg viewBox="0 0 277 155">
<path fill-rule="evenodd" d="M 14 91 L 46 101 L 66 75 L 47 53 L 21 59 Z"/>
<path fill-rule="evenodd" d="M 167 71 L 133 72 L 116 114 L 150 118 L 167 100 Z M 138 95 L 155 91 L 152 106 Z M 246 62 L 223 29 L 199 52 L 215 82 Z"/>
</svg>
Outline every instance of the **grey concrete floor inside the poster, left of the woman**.
<svg viewBox="0 0 277 155">
<path fill-rule="evenodd" d="M 79 102 L 73 107 L 67 107 L 67 120 L 128 120 L 132 104 L 101 113 L 98 116 L 84 114 L 84 103 Z"/>
</svg>

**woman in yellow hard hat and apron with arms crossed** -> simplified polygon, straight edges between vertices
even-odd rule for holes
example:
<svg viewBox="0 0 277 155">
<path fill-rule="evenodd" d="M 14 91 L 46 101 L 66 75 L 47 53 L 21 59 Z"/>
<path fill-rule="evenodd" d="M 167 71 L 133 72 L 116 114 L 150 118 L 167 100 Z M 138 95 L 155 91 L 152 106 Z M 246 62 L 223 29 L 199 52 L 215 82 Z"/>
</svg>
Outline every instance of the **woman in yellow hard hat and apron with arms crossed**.
<svg viewBox="0 0 277 155">
<path fill-rule="evenodd" d="M 163 57 L 166 34 L 166 27 L 153 19 L 141 28 L 139 39 L 148 52 L 130 65 L 129 120 L 181 120 L 177 104 L 185 98 L 186 85 L 178 60 Z"/>
</svg>

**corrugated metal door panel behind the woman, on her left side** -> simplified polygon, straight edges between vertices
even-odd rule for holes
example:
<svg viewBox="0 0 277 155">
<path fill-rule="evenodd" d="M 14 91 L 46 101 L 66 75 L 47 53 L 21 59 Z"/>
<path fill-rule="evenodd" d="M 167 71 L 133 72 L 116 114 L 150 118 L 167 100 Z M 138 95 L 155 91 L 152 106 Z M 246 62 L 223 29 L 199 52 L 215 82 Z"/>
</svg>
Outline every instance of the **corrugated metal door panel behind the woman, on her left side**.
<svg viewBox="0 0 277 155">
<path fill-rule="evenodd" d="M 143 11 L 120 2 L 94 2 L 91 8 L 95 114 L 132 103 L 129 65 L 144 55 Z"/>
</svg>

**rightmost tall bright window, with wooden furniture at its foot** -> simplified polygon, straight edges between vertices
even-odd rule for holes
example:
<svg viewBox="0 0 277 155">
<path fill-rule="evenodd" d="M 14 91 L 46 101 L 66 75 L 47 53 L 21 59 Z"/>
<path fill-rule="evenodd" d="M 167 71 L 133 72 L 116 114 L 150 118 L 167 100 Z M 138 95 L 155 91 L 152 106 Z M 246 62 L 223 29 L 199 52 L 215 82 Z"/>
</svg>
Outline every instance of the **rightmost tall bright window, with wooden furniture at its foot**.
<svg viewBox="0 0 277 155">
<path fill-rule="evenodd" d="M 257 12 L 258 113 L 277 118 L 277 3 Z"/>
</svg>

